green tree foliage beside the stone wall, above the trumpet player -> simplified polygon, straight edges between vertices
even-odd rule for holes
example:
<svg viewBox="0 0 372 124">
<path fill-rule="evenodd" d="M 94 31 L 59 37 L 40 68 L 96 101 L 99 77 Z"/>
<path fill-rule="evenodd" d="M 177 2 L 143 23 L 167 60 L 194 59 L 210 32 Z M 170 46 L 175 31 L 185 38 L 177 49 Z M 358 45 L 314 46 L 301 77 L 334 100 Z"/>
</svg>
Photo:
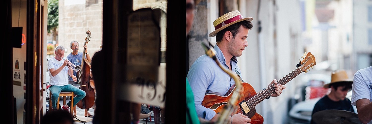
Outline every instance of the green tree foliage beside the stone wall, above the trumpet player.
<svg viewBox="0 0 372 124">
<path fill-rule="evenodd" d="M 58 0 L 48 0 L 48 33 L 58 28 Z M 56 35 L 56 34 L 54 34 Z"/>
</svg>

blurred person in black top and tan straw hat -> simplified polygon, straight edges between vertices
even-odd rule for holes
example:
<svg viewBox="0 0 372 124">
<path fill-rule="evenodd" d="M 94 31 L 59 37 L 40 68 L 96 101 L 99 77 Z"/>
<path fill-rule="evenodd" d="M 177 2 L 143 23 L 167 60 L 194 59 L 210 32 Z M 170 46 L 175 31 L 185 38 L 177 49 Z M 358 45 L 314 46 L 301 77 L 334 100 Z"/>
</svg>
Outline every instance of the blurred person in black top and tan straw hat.
<svg viewBox="0 0 372 124">
<path fill-rule="evenodd" d="M 331 88 L 331 92 L 321 98 L 314 106 L 312 114 L 315 112 L 327 109 L 338 109 L 354 112 L 350 99 L 346 98 L 347 92 L 352 87 L 353 80 L 347 77 L 346 71 L 333 71 L 331 75 L 331 83 L 325 84 L 323 88 Z M 316 124 L 311 119 L 311 124 Z"/>
</svg>

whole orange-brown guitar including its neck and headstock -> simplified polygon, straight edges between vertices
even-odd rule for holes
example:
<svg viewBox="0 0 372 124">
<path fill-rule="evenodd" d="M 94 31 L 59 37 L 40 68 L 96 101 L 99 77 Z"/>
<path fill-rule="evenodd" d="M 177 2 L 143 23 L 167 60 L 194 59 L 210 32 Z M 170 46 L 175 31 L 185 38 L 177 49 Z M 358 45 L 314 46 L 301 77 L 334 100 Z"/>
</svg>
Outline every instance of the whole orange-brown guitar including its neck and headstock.
<svg viewBox="0 0 372 124">
<path fill-rule="evenodd" d="M 206 53 L 209 54 L 213 52 Z M 297 68 L 293 70 L 291 73 L 284 76 L 282 79 L 278 80 L 279 84 L 285 85 L 286 83 L 294 79 L 296 76 L 298 76 L 298 74 L 301 74 L 302 72 L 307 73 L 308 72 L 307 70 L 309 70 L 310 67 L 316 64 L 315 57 L 311 53 L 304 54 L 301 58 L 303 58 L 303 60 L 296 65 Z M 218 61 L 216 61 L 216 63 L 219 65 Z M 224 70 L 222 66 L 220 67 L 222 70 Z M 230 73 L 228 71 L 225 72 L 228 73 L 231 77 L 237 76 L 234 73 Z M 250 122 L 251 124 L 262 124 L 263 117 L 262 115 L 256 113 L 256 105 L 258 105 L 264 99 L 268 98 L 270 95 L 275 93 L 274 84 L 267 86 L 264 90 L 260 91 L 259 93 L 256 93 L 253 87 L 246 82 L 241 82 L 241 88 L 239 91 L 241 93 L 240 95 L 233 94 L 235 92 L 234 89 L 235 85 L 231 86 L 229 91 L 224 96 L 207 94 L 204 96 L 202 105 L 205 106 L 206 108 L 214 110 L 216 113 L 219 114 L 225 114 L 224 113 L 225 108 L 230 109 L 234 107 L 234 110 L 231 113 L 229 113 L 229 115 L 241 113 L 248 116 L 251 119 Z M 236 96 L 240 96 L 240 98 Z M 231 103 L 232 104 L 231 105 L 230 100 L 236 101 L 236 103 Z"/>
</svg>

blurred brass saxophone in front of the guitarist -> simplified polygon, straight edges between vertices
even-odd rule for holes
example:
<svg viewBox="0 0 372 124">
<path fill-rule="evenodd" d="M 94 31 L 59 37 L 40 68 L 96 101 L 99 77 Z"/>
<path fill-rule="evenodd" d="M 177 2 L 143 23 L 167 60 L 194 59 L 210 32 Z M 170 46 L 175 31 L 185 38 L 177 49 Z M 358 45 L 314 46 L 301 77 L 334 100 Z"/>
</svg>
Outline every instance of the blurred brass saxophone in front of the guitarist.
<svg viewBox="0 0 372 124">
<path fill-rule="evenodd" d="M 221 116 L 218 118 L 218 120 L 216 122 L 216 124 L 227 124 L 227 122 L 228 122 L 227 117 L 230 116 L 230 113 L 232 113 L 232 111 L 235 109 L 235 107 L 237 105 L 238 99 L 242 96 L 241 91 L 243 91 L 243 90 L 241 90 L 241 87 L 242 87 L 243 80 L 241 80 L 236 73 L 234 73 L 231 70 L 227 70 L 224 66 L 221 65 L 221 63 L 219 63 L 219 61 L 217 60 L 217 57 L 216 57 L 216 51 L 212 47 L 211 43 L 209 43 L 210 47 L 208 47 L 207 45 L 205 45 L 202 42 L 202 46 L 205 50 L 205 54 L 208 55 L 209 57 L 211 57 L 217 63 L 217 65 L 223 71 L 225 71 L 227 74 L 229 74 L 232 77 L 232 79 L 234 79 L 234 81 L 235 81 L 235 90 L 232 92 L 232 96 L 231 96 L 230 100 L 228 101 L 227 106 L 225 106 L 224 110 L 222 111 Z"/>
</svg>

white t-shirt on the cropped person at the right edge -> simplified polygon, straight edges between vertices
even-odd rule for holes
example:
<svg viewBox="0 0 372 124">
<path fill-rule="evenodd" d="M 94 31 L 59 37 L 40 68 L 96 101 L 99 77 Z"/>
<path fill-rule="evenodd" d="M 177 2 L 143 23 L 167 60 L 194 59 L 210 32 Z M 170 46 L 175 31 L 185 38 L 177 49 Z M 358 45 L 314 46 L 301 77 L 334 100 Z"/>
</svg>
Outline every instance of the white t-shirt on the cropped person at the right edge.
<svg viewBox="0 0 372 124">
<path fill-rule="evenodd" d="M 354 74 L 351 104 L 356 105 L 359 99 L 372 101 L 372 66 L 360 69 Z M 372 121 L 368 124 L 372 124 Z"/>
</svg>

